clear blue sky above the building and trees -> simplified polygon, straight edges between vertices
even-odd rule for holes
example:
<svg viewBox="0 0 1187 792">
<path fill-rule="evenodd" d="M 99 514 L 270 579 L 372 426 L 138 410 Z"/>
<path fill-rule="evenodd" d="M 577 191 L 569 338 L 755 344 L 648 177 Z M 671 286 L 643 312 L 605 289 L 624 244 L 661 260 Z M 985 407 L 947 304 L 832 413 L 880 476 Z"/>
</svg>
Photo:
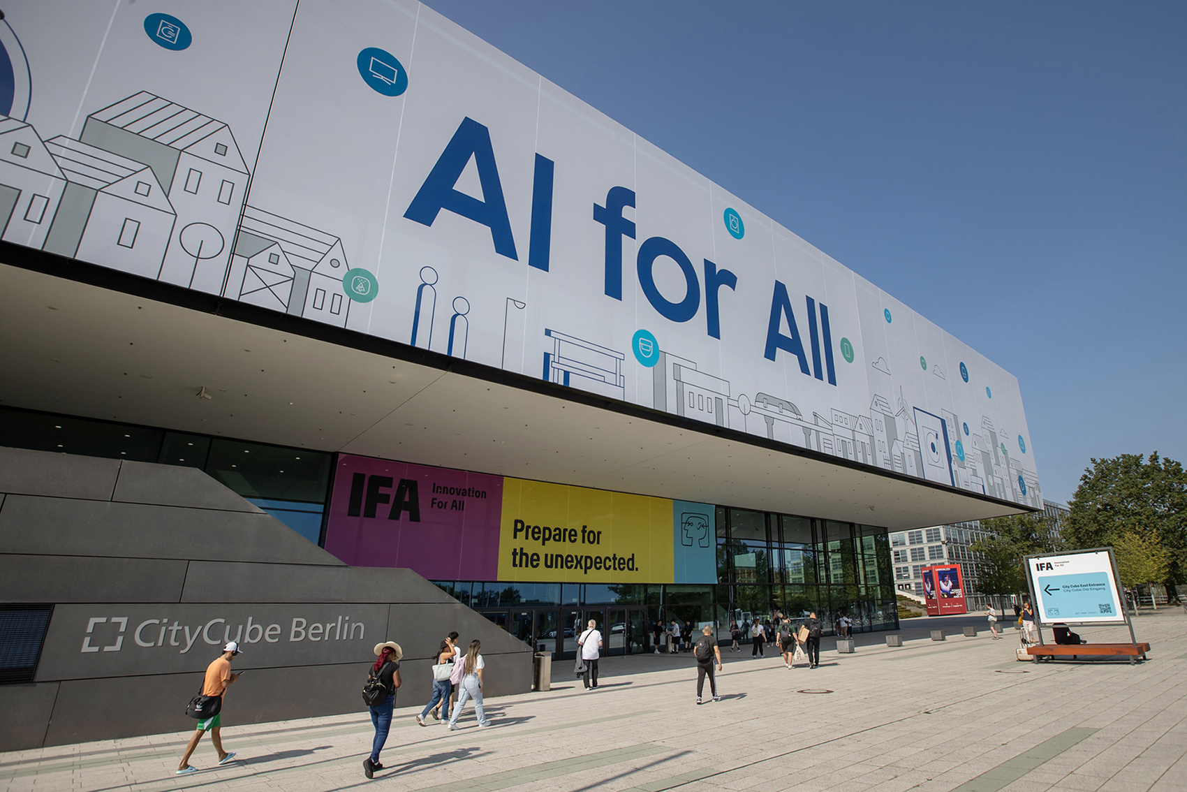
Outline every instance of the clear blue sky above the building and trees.
<svg viewBox="0 0 1187 792">
<path fill-rule="evenodd" d="M 1187 456 L 1187 2 L 429 5 L 1015 374 L 1048 500 Z"/>
</svg>

